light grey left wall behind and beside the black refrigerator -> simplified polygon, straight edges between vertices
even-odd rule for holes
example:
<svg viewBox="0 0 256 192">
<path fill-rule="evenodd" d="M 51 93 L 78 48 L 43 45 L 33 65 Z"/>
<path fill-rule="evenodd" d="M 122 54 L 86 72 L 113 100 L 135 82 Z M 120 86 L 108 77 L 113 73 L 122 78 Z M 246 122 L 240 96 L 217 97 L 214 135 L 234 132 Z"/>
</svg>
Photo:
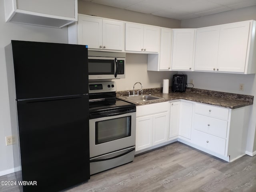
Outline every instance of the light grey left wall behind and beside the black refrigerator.
<svg viewBox="0 0 256 192">
<path fill-rule="evenodd" d="M 4 1 L 0 1 L 0 176 L 14 172 L 12 146 L 5 136 L 12 135 L 4 47 L 11 40 L 68 43 L 67 27 L 62 29 L 6 23 Z"/>
</svg>

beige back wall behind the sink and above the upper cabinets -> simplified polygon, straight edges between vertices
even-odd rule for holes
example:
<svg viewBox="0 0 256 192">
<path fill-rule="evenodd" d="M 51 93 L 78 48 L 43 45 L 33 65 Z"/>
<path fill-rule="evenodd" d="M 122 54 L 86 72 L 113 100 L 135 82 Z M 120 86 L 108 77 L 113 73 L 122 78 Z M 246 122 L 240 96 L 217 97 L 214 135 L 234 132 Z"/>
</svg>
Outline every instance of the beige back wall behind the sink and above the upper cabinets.
<svg viewBox="0 0 256 192">
<path fill-rule="evenodd" d="M 180 28 L 180 20 L 122 10 L 83 0 L 78 0 L 78 13 L 167 28 Z M 126 54 L 125 79 L 114 80 L 118 91 L 132 90 L 136 82 L 141 82 L 143 88 L 162 87 L 163 79 L 170 80 L 172 75 L 176 73 L 147 71 L 147 56 L 147 54 Z M 136 85 L 135 88 L 139 89 L 140 87 Z"/>
</svg>

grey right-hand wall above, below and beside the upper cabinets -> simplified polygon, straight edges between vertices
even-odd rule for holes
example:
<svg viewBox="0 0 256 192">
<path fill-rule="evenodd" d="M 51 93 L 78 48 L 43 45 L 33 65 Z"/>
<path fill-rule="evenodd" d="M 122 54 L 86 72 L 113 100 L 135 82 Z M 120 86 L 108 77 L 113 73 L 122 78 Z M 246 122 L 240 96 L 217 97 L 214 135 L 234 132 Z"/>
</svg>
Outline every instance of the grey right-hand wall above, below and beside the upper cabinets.
<svg viewBox="0 0 256 192">
<path fill-rule="evenodd" d="M 209 16 L 182 20 L 182 28 L 199 28 L 244 20 L 256 20 L 256 6 L 240 8 Z M 256 65 L 256 63 L 255 63 Z M 188 82 L 194 80 L 195 88 L 247 94 L 254 96 L 250 114 L 247 152 L 256 155 L 256 77 L 255 74 L 221 74 L 208 72 L 188 72 Z M 244 91 L 239 91 L 239 84 L 244 84 Z"/>
</svg>

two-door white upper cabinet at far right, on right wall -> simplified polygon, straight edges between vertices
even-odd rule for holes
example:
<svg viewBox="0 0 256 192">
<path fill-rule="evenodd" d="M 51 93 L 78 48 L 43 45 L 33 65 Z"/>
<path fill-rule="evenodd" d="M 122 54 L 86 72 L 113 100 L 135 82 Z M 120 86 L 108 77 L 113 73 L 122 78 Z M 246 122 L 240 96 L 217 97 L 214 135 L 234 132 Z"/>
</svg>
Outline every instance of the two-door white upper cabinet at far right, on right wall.
<svg viewBox="0 0 256 192">
<path fill-rule="evenodd" d="M 197 29 L 194 70 L 255 73 L 255 32 L 252 20 Z"/>
</svg>

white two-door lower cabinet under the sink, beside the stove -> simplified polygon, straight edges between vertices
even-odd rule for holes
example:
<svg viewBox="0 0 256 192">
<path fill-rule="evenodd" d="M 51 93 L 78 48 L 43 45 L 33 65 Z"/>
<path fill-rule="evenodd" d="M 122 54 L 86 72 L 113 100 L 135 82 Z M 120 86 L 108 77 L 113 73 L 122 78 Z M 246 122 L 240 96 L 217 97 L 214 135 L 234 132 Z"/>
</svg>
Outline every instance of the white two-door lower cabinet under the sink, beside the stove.
<svg viewBox="0 0 256 192">
<path fill-rule="evenodd" d="M 169 103 L 136 107 L 136 152 L 167 142 Z"/>
</svg>

